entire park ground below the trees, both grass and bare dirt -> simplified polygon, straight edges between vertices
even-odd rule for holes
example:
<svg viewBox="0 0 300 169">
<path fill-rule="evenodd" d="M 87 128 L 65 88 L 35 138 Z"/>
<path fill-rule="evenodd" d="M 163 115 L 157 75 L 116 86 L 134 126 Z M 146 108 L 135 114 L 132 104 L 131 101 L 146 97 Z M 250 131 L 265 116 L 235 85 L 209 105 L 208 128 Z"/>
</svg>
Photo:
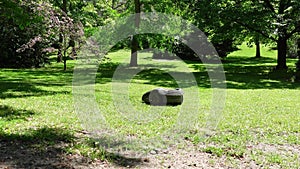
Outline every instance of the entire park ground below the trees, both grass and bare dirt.
<svg viewBox="0 0 300 169">
<path fill-rule="evenodd" d="M 75 61 L 68 62 L 67 71 L 55 62 L 40 69 L 0 69 L 0 168 L 300 168 L 300 84 L 293 80 L 296 59 L 288 59 L 287 72 L 274 72 L 276 51 L 263 47 L 263 57 L 253 58 L 253 48 L 241 48 L 223 61 L 226 101 L 217 128 L 199 135 L 208 117 L 200 113 L 195 117 L 199 128 L 141 158 L 104 150 L 82 127 L 72 95 Z M 120 64 L 129 62 L 129 53 L 109 53 L 111 60 L 100 64 L 96 100 L 106 121 L 119 133 L 136 139 L 157 137 L 178 121 L 180 106 L 166 107 L 149 123 L 124 120 L 111 97 L 112 77 Z M 149 66 L 149 59 L 149 53 L 140 53 L 140 67 Z M 132 78 L 128 90 L 133 107 L 149 112 L 150 106 L 141 102 L 144 92 L 178 87 L 168 74 L 178 71 L 178 61 L 170 63 Z M 199 112 L 207 112 L 212 89 L 205 66 L 185 65 L 198 83 Z"/>
</svg>

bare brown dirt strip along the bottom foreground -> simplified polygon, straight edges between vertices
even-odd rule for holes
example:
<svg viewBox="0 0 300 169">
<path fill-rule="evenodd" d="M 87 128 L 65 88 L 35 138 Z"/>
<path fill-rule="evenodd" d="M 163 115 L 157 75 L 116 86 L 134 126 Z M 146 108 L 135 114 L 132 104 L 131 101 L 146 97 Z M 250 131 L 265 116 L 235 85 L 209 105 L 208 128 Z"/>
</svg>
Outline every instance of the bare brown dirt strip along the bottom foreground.
<svg viewBox="0 0 300 169">
<path fill-rule="evenodd" d="M 189 144 L 189 143 L 188 143 Z M 67 155 L 61 145 L 47 146 L 46 150 L 33 143 L 0 141 L 1 169 L 98 169 L 98 168 L 230 168 L 226 157 L 216 157 L 197 150 L 193 145 L 178 149 L 153 150 L 139 159 L 120 157 L 113 162 L 91 161 L 80 155 Z M 239 168 L 258 168 L 254 163 L 237 164 Z"/>
</svg>

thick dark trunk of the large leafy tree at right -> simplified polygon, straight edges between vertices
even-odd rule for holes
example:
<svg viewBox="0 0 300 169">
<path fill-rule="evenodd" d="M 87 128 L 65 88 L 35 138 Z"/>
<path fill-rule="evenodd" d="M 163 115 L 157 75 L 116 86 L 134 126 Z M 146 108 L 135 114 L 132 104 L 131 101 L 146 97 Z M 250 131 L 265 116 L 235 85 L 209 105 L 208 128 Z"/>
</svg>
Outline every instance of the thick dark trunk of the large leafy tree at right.
<svg viewBox="0 0 300 169">
<path fill-rule="evenodd" d="M 286 54 L 287 54 L 287 39 L 279 36 L 277 40 L 277 66 L 276 69 L 287 69 Z"/>
</svg>

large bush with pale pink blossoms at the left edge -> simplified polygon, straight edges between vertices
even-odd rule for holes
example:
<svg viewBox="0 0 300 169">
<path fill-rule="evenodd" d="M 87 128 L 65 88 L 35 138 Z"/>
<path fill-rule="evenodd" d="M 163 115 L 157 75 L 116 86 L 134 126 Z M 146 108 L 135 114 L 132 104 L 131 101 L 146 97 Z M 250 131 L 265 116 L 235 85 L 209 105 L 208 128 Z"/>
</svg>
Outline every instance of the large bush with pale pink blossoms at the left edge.
<svg viewBox="0 0 300 169">
<path fill-rule="evenodd" d="M 83 36 L 80 23 L 47 2 L 4 0 L 0 11 L 4 13 L 0 15 L 1 67 L 41 67 L 49 63 L 51 45 L 59 35 L 65 53 L 67 40 Z"/>
</svg>

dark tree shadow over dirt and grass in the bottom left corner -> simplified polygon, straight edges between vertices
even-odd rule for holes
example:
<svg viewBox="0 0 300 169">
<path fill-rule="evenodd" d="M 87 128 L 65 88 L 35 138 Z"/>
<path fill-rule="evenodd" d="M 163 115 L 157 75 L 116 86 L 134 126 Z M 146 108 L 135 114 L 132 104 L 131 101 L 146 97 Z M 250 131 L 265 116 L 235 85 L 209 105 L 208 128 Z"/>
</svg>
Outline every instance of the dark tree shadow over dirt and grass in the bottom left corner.
<svg viewBox="0 0 300 169">
<path fill-rule="evenodd" d="M 62 128 L 43 127 L 25 134 L 7 134 L 0 130 L 0 168 L 88 168 L 92 159 L 67 155 L 66 147 L 74 139 L 73 134 Z M 90 145 L 90 149 L 95 148 Z M 145 162 L 142 158 L 104 153 L 104 157 L 118 167 L 136 167 Z"/>
</svg>

